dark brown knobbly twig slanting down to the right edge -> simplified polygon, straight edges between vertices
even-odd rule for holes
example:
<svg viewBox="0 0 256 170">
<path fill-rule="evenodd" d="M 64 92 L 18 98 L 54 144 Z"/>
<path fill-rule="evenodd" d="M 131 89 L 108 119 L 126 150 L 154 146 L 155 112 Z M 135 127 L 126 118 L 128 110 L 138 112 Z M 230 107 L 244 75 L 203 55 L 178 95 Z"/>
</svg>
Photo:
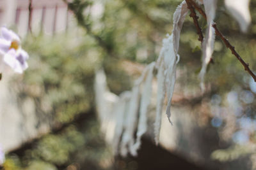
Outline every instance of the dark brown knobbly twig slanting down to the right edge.
<svg viewBox="0 0 256 170">
<path fill-rule="evenodd" d="M 187 2 L 187 4 L 188 4 L 188 6 L 189 6 L 189 4 L 192 4 L 193 7 L 205 18 L 205 20 L 207 19 L 204 10 L 202 10 L 202 8 L 201 8 L 198 4 L 196 4 L 195 1 L 193 1 L 193 0 L 186 0 L 186 2 Z M 193 8 L 193 7 L 192 7 L 192 8 Z M 189 8 L 189 7 L 188 7 L 188 8 Z M 193 8 L 193 9 L 194 9 L 194 8 Z M 189 8 L 189 10 L 190 10 L 190 8 Z M 191 11 L 191 10 L 190 10 L 190 11 Z M 194 10 L 194 11 L 195 11 L 195 10 Z M 191 13 L 192 13 L 192 11 L 191 11 Z M 222 34 L 222 33 L 220 32 L 220 30 L 217 28 L 217 25 L 216 25 L 215 23 L 212 24 L 212 27 L 215 29 L 215 34 L 221 38 L 221 40 L 223 41 L 223 43 L 225 43 L 225 45 L 227 46 L 227 48 L 230 49 L 230 51 L 232 52 L 232 54 L 235 55 L 236 58 L 237 58 L 237 60 L 239 60 L 239 62 L 241 62 L 241 64 L 244 66 L 244 70 L 247 71 L 247 72 L 252 76 L 253 80 L 256 82 L 256 76 L 255 76 L 255 74 L 251 71 L 251 69 L 250 69 L 250 67 L 249 67 L 249 64 L 246 63 L 246 62 L 244 62 L 244 60 L 241 58 L 241 56 L 236 52 L 235 47 L 230 44 L 230 42 L 228 41 L 227 38 L 225 38 L 225 36 L 223 36 L 223 34 Z"/>
</svg>

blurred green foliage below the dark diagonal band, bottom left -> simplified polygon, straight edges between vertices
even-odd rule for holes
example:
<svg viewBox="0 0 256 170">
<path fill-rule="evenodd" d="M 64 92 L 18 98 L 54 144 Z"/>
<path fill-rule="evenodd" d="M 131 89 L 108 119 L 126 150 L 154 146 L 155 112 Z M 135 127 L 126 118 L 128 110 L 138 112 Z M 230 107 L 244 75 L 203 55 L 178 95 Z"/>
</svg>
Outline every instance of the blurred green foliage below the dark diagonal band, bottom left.
<svg viewBox="0 0 256 170">
<path fill-rule="evenodd" d="M 100 135 L 99 124 L 95 117 L 83 124 L 86 125 L 69 125 L 58 133 L 47 134 L 22 157 L 10 153 L 4 169 L 60 169 L 75 163 L 84 168 L 92 164 L 95 169 L 108 169 L 100 166 L 100 162 L 111 159 L 111 153 Z"/>
</svg>

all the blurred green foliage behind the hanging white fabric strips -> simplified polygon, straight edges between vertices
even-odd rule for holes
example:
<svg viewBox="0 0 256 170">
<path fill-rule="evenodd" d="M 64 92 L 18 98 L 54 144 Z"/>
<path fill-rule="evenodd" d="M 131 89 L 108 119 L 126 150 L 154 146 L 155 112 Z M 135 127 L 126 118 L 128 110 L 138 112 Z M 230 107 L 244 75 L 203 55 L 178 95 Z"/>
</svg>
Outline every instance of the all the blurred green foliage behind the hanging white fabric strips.
<svg viewBox="0 0 256 170">
<path fill-rule="evenodd" d="M 99 18 L 84 12 L 95 3 L 104 6 Z M 38 125 L 49 121 L 52 132 L 8 153 L 4 169 L 116 168 L 116 160 L 104 143 L 95 116 L 94 71 L 104 67 L 109 88 L 115 94 L 131 89 L 132 78 L 140 73 L 129 70 L 124 63 L 148 64 L 157 59 L 162 39 L 166 33 L 171 33 L 172 14 L 179 3 L 178 0 L 74 0 L 68 6 L 74 11 L 81 28 L 78 33 L 69 31 L 54 38 L 28 35 L 23 48 L 30 55 L 29 69 L 24 73 L 24 83 L 17 85 L 19 100 L 22 102 L 30 97 L 36 101 Z M 221 32 L 250 63 L 252 70 L 256 70 L 255 7 L 256 1 L 252 0 L 252 25 L 248 34 L 239 31 L 222 1 L 219 1 L 216 16 Z M 205 29 L 206 22 L 202 17 L 200 25 Z M 201 52 L 197 39 L 193 22 L 187 17 L 180 36 L 179 69 L 182 76 L 178 78 L 179 89 L 188 89 L 183 91 L 186 95 L 200 90 L 197 76 L 201 67 Z M 251 91 L 250 76 L 219 38 L 216 38 L 215 48 L 214 64 L 209 65 L 205 80 L 210 93 L 204 96 L 204 100 L 211 106 L 217 103 L 219 108 L 229 107 L 226 98 L 232 92 L 236 94 L 241 111 L 236 114 L 236 129 L 232 131 L 235 136 L 228 140 L 232 147 L 214 152 L 212 158 L 231 161 L 252 155 L 252 150 L 243 144 L 256 142 L 255 131 L 248 133 L 241 121 L 255 124 L 255 93 Z M 248 98 L 252 101 L 246 101 Z M 209 122 L 206 123 L 222 131 L 226 120 L 221 115 L 216 117 L 211 111 L 208 112 Z M 244 132 L 246 136 L 236 138 L 237 132 Z M 241 142 L 245 138 L 248 139 Z M 117 169 L 137 168 L 129 164 L 132 160 L 125 161 L 125 166 L 118 166 Z M 243 166 L 244 169 L 252 167 Z"/>
</svg>

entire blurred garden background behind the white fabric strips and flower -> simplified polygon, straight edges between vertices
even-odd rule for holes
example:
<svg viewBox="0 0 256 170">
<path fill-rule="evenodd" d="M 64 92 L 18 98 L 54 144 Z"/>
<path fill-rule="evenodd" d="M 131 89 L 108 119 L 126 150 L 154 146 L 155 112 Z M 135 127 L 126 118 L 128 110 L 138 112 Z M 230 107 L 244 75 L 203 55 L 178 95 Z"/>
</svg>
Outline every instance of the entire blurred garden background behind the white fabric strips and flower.
<svg viewBox="0 0 256 170">
<path fill-rule="evenodd" d="M 157 59 L 179 3 L 33 0 L 29 9 L 28 0 L 1 0 L 0 23 L 22 38 L 29 68 L 7 69 L 0 81 L 0 169 L 256 169 L 256 83 L 216 38 L 203 93 L 200 41 L 189 16 L 180 35 L 173 126 L 163 113 L 160 145 L 153 130 L 156 80 L 138 157 L 113 155 L 100 131 L 95 71 L 104 68 L 114 94 L 130 90 Z M 218 3 L 219 29 L 256 71 L 256 1 L 246 34 Z M 199 22 L 205 30 L 204 18 Z"/>
</svg>

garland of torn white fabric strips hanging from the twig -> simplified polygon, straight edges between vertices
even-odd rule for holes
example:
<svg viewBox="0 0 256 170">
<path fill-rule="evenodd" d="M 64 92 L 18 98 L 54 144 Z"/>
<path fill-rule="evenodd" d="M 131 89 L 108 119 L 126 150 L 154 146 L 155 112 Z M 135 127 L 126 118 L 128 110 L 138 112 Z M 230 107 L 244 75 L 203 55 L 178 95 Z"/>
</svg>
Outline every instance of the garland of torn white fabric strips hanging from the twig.
<svg viewBox="0 0 256 170">
<path fill-rule="evenodd" d="M 239 1 L 239 3 L 238 3 Z M 207 29 L 202 42 L 202 69 L 200 71 L 201 87 L 204 89 L 204 75 L 207 64 L 209 64 L 214 50 L 215 34 L 212 27 L 216 13 L 217 0 L 196 0 L 199 4 L 204 4 L 207 17 Z M 234 2 L 234 4 L 232 4 Z M 246 30 L 250 23 L 250 13 L 248 17 L 248 0 L 226 0 L 225 4 L 233 13 L 235 10 L 239 14 L 234 15 L 239 21 L 242 31 Z M 240 8 L 238 8 L 238 6 Z M 137 155 L 141 145 L 141 137 L 147 132 L 147 113 L 152 95 L 152 82 L 154 80 L 154 70 L 157 70 L 157 102 L 156 118 L 154 123 L 154 134 L 156 144 L 159 143 L 159 132 L 161 128 L 161 114 L 164 106 L 164 98 L 167 98 L 166 115 L 172 124 L 171 103 L 176 80 L 176 68 L 179 62 L 179 40 L 182 25 L 188 14 L 188 5 L 182 1 L 177 6 L 173 14 L 172 34 L 167 34 L 163 39 L 163 46 L 156 62 L 152 62 L 145 67 L 140 78 L 135 81 L 134 87 L 129 92 L 123 92 L 120 97 L 109 92 L 106 87 L 106 76 L 102 71 L 98 71 L 95 77 L 96 103 L 102 131 L 106 132 L 109 143 L 113 145 L 114 153 L 126 156 L 127 153 Z M 238 15 L 240 17 L 238 17 Z M 143 88 L 142 88 L 143 87 Z M 115 108 L 109 108 L 113 106 Z M 106 123 L 107 122 L 107 123 Z M 109 124 L 108 122 L 111 122 Z M 110 127 L 111 131 L 106 129 Z M 137 128 L 138 127 L 138 128 Z M 136 129 L 137 128 L 137 129 Z M 112 132 L 113 131 L 113 132 Z M 136 134 L 136 139 L 134 139 Z M 112 138 L 112 140 L 111 140 Z"/>
</svg>

